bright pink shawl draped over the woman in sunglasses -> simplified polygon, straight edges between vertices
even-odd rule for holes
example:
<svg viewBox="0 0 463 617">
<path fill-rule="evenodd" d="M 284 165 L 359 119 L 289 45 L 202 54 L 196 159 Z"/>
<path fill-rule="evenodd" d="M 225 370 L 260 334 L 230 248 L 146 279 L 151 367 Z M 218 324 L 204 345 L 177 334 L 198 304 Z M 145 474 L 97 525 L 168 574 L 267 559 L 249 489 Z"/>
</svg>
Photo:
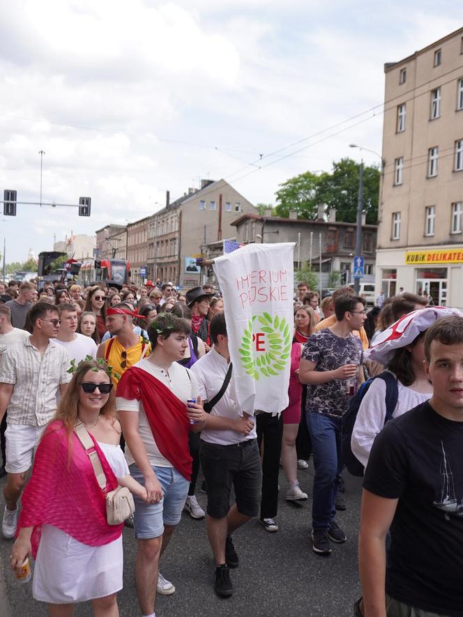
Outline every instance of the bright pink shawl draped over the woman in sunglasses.
<svg viewBox="0 0 463 617">
<path fill-rule="evenodd" d="M 105 472 L 107 491 L 117 479 L 95 438 L 91 435 Z M 119 538 L 122 525 L 108 525 L 105 495 L 98 486 L 93 466 L 75 433 L 68 461 L 68 434 L 61 420 L 45 429 L 37 448 L 32 476 L 22 495 L 22 510 L 16 533 L 33 527 L 32 556 L 36 558 L 42 525 L 65 531 L 83 544 L 99 547 Z"/>
</svg>

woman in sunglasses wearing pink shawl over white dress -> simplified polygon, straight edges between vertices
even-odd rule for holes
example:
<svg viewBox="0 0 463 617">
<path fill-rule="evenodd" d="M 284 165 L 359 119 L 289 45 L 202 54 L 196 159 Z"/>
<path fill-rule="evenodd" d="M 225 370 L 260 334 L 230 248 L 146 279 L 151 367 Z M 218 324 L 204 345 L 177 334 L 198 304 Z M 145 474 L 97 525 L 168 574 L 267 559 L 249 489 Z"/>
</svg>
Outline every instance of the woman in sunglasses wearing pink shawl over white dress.
<svg viewBox="0 0 463 617">
<path fill-rule="evenodd" d="M 146 499 L 130 477 L 119 446 L 121 427 L 114 417 L 114 393 L 101 360 L 81 362 L 59 410 L 38 445 L 22 496 L 11 568 L 26 556 L 36 560 L 33 597 L 47 602 L 50 616 L 67 617 L 76 602 L 91 600 L 101 617 L 117 617 L 122 588 L 122 524 L 108 525 L 100 489 L 84 446 L 73 431 L 84 424 L 106 476 L 106 491 L 118 485 Z"/>
</svg>

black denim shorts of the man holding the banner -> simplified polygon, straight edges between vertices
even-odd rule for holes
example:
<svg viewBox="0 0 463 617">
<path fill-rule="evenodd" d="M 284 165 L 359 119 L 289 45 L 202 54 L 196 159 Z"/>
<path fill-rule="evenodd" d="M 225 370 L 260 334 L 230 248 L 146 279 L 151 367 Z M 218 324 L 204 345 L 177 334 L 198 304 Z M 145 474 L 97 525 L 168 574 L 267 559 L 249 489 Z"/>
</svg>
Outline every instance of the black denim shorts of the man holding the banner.
<svg viewBox="0 0 463 617">
<path fill-rule="evenodd" d="M 207 486 L 208 515 L 215 519 L 227 516 L 233 485 L 238 512 L 257 517 L 262 487 L 257 439 L 233 445 L 201 441 L 200 457 Z"/>
</svg>

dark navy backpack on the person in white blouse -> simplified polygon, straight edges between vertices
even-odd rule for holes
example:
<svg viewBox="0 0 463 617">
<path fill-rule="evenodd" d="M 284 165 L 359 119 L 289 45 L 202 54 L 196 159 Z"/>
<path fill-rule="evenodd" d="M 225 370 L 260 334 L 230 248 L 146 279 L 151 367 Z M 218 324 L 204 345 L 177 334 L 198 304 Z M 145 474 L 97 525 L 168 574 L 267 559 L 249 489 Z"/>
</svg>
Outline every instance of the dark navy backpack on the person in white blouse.
<svg viewBox="0 0 463 617">
<path fill-rule="evenodd" d="M 356 423 L 358 408 L 363 400 L 363 397 L 370 388 L 374 379 L 383 379 L 386 381 L 386 420 L 384 424 L 392 419 L 395 406 L 397 405 L 397 399 L 399 397 L 399 388 L 397 386 L 397 379 L 395 375 L 389 371 L 384 371 L 381 374 L 367 379 L 364 381 L 356 394 L 351 398 L 349 403 L 349 409 L 342 416 L 341 424 L 341 447 L 342 447 L 342 462 L 347 467 L 347 471 L 351 475 L 362 476 L 364 470 L 363 465 L 354 455 L 351 448 L 352 432 L 354 431 L 354 425 Z"/>
</svg>

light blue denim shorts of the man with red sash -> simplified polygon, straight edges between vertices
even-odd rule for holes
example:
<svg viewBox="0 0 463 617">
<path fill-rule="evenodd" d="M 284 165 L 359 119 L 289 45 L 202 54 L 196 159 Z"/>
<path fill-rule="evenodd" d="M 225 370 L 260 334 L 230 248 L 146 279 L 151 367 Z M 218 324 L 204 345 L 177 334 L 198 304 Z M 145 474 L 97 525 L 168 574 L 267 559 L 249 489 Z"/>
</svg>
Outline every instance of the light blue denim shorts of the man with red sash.
<svg viewBox="0 0 463 617">
<path fill-rule="evenodd" d="M 144 486 L 144 475 L 134 463 L 129 467 L 130 475 Z M 137 495 L 133 515 L 135 538 L 149 540 L 159 538 L 164 533 L 164 525 L 178 525 L 190 482 L 174 467 L 153 467 L 164 497 L 158 503 L 146 503 Z"/>
</svg>

